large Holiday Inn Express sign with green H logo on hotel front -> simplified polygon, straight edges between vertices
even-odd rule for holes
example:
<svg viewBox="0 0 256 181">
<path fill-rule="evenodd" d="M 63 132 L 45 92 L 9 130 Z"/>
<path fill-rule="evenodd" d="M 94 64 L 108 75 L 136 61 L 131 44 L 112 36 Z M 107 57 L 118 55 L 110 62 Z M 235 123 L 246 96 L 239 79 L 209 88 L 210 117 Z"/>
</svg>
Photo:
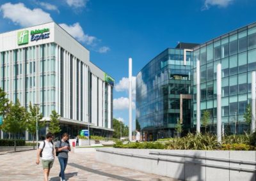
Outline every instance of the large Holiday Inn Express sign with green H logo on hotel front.
<svg viewBox="0 0 256 181">
<path fill-rule="evenodd" d="M 50 29 L 35 29 L 30 31 L 30 41 L 38 41 L 50 38 Z M 19 31 L 18 32 L 18 45 L 25 45 L 29 43 L 29 31 Z"/>
</svg>

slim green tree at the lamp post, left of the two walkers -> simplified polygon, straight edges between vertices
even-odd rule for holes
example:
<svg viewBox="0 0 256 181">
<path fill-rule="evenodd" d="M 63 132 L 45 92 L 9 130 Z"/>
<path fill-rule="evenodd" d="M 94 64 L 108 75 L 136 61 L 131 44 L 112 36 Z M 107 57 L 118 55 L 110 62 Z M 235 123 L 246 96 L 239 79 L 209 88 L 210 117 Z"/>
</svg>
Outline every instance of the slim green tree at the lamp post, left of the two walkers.
<svg viewBox="0 0 256 181">
<path fill-rule="evenodd" d="M 43 118 L 43 114 L 40 113 L 39 106 L 32 106 L 31 102 L 30 102 L 29 103 L 28 120 L 26 122 L 26 126 L 28 129 L 28 132 L 32 134 L 33 143 L 35 143 L 35 135 L 36 135 L 36 113 L 37 113 L 37 120 L 38 120 L 38 129 L 40 129 L 40 127 L 45 126 L 45 122 L 39 121 Z M 34 145 L 34 149 L 35 149 L 35 144 L 33 144 L 33 145 Z"/>
</svg>

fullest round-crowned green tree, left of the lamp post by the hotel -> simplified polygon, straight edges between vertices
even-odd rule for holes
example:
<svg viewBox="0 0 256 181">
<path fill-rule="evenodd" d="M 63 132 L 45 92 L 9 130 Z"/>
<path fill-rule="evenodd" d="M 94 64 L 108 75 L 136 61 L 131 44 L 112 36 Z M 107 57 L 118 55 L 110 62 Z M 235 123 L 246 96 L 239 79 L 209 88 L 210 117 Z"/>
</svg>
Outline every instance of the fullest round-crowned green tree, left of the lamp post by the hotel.
<svg viewBox="0 0 256 181">
<path fill-rule="evenodd" d="M 17 103 L 13 105 L 10 103 L 10 110 L 6 113 L 6 117 L 3 122 L 3 130 L 8 133 L 14 134 L 14 150 L 16 151 L 16 133 L 26 131 L 26 120 L 28 119 L 28 112 L 26 108 L 20 106 L 20 102 L 17 99 Z"/>
</svg>

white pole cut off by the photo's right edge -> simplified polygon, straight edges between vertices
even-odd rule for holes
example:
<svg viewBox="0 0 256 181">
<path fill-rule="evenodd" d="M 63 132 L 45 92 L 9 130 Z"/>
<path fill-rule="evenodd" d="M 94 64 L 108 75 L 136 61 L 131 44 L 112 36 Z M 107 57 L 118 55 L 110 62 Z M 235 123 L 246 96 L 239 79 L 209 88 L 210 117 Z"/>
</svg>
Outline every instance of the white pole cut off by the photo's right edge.
<svg viewBox="0 0 256 181">
<path fill-rule="evenodd" d="M 255 132 L 255 79 L 256 79 L 256 71 L 252 72 L 252 126 L 251 131 L 252 133 Z"/>
</svg>

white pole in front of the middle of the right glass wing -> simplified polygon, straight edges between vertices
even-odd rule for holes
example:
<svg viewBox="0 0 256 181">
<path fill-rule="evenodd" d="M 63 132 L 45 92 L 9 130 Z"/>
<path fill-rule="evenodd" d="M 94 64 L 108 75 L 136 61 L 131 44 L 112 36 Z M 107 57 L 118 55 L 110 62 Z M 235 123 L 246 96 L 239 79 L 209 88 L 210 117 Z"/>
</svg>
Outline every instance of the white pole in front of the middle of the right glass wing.
<svg viewBox="0 0 256 181">
<path fill-rule="evenodd" d="M 217 65 L 217 140 L 221 143 L 221 64 Z"/>
</svg>

